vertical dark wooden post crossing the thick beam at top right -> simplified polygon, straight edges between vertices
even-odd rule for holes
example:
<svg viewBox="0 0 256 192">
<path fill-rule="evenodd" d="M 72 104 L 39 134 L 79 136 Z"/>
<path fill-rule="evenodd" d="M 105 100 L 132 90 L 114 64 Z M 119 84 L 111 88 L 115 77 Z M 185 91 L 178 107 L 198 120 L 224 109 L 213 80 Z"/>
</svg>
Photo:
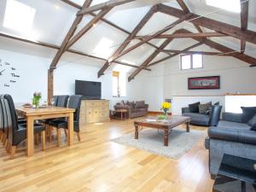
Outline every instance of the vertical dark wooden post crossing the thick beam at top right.
<svg viewBox="0 0 256 192">
<path fill-rule="evenodd" d="M 249 2 L 245 0 L 240 0 L 241 2 L 241 30 L 247 30 L 247 23 L 248 23 L 248 9 L 249 9 Z M 241 53 L 244 53 L 246 49 L 246 40 L 241 40 Z"/>
</svg>

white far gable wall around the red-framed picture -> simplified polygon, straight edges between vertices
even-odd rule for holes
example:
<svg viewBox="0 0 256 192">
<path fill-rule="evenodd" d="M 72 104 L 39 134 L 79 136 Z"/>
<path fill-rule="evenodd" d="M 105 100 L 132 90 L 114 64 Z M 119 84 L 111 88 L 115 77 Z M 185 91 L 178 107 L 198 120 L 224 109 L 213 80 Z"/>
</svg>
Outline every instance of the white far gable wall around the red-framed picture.
<svg viewBox="0 0 256 192">
<path fill-rule="evenodd" d="M 216 51 L 201 46 L 206 51 Z M 198 50 L 198 49 L 197 49 Z M 174 98 L 173 112 L 181 113 L 181 108 L 193 102 L 221 102 L 226 93 L 256 93 L 256 67 L 228 56 L 204 55 L 201 69 L 179 69 L 179 56 L 156 65 L 152 72 L 139 73 L 131 81 L 131 98 L 148 102 L 149 109 L 159 111 L 160 103 L 166 98 Z M 188 90 L 188 78 L 220 76 L 219 90 Z"/>
</svg>

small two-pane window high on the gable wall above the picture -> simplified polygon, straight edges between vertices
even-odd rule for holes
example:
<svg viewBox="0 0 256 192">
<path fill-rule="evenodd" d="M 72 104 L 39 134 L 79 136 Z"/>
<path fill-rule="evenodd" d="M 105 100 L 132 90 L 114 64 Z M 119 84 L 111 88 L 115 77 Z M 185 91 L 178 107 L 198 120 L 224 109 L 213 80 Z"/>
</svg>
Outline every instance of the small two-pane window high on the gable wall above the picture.
<svg viewBox="0 0 256 192">
<path fill-rule="evenodd" d="M 202 68 L 203 59 L 201 54 L 195 55 L 180 55 L 181 59 L 181 69 L 193 69 L 193 68 Z"/>
</svg>

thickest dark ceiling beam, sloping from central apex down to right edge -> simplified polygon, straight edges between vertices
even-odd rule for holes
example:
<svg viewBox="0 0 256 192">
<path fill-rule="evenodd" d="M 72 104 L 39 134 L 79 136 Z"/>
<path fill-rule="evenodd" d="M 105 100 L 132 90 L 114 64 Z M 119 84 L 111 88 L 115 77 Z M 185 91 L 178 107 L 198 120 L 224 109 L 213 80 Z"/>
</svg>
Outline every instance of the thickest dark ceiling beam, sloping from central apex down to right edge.
<svg viewBox="0 0 256 192">
<path fill-rule="evenodd" d="M 181 18 L 184 15 L 182 10 L 172 8 L 172 7 L 169 7 L 164 4 L 159 4 L 158 10 L 161 13 L 165 13 L 167 15 L 172 15 L 177 18 Z M 192 19 L 194 19 L 194 20 L 192 20 Z M 256 44 L 256 32 L 249 31 L 249 30 L 243 31 L 243 30 L 241 30 L 240 27 L 232 26 L 230 24 L 226 24 L 226 23 L 220 22 L 218 20 L 212 20 L 207 17 L 195 15 L 192 13 L 189 17 L 189 20 L 190 20 L 190 22 L 194 23 L 195 25 L 204 26 L 204 27 L 207 27 L 214 31 L 228 34 L 234 38 L 243 39 L 243 40 L 246 40 L 247 42 Z"/>
</svg>

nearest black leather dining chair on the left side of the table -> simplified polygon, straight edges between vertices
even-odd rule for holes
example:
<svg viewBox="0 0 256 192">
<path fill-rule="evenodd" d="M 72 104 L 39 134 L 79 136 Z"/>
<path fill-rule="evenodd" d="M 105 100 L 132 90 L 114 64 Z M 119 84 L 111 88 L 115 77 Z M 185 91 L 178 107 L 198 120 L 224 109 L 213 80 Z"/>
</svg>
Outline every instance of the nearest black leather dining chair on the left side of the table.
<svg viewBox="0 0 256 192">
<path fill-rule="evenodd" d="M 3 96 L 5 102 L 5 109 L 8 119 L 8 145 L 10 148 L 11 159 L 14 158 L 15 149 L 18 144 L 26 139 L 26 124 L 19 124 L 18 117 L 15 110 L 15 103 L 11 96 Z M 45 150 L 45 126 L 34 123 L 34 133 L 42 133 L 43 136 L 43 150 Z M 8 149 L 9 151 L 9 149 Z"/>
</svg>

